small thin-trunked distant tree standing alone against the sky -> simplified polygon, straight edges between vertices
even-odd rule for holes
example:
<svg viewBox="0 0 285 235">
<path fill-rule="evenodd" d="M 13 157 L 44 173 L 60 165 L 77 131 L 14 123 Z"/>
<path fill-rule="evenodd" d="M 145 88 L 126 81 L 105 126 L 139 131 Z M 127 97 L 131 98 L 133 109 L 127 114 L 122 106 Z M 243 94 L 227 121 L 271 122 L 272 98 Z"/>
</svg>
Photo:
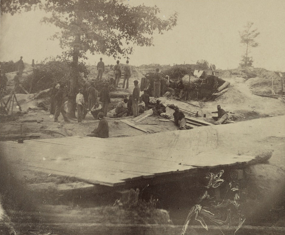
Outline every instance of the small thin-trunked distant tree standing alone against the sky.
<svg viewBox="0 0 285 235">
<path fill-rule="evenodd" d="M 242 60 L 240 63 L 241 67 L 252 66 L 253 59 L 251 56 L 248 56 L 248 54 L 250 53 L 250 47 L 258 46 L 258 42 L 255 41 L 255 38 L 260 33 L 257 32 L 257 28 L 252 29 L 252 26 L 253 22 L 247 22 L 247 24 L 244 26 L 244 31 L 239 31 L 239 35 L 241 36 L 241 44 L 245 45 L 246 47 L 245 55 L 242 56 Z"/>
</svg>

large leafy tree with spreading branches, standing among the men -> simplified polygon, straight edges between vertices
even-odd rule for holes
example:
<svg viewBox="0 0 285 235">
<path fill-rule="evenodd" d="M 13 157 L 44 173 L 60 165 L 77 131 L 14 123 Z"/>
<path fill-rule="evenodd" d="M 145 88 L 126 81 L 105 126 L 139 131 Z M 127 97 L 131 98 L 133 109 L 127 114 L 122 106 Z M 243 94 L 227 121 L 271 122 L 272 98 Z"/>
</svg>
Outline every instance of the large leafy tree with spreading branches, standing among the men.
<svg viewBox="0 0 285 235">
<path fill-rule="evenodd" d="M 167 20 L 157 15 L 159 8 L 131 6 L 120 0 L 7 0 L 1 1 L 1 12 L 14 14 L 21 10 L 42 8 L 51 13 L 42 19 L 57 26 L 58 38 L 65 55 L 72 57 L 68 90 L 68 114 L 75 116 L 78 89 L 78 59 L 86 52 L 102 53 L 120 59 L 132 54 L 131 44 L 153 45 L 153 33 L 163 34 L 177 22 L 175 12 Z"/>
</svg>

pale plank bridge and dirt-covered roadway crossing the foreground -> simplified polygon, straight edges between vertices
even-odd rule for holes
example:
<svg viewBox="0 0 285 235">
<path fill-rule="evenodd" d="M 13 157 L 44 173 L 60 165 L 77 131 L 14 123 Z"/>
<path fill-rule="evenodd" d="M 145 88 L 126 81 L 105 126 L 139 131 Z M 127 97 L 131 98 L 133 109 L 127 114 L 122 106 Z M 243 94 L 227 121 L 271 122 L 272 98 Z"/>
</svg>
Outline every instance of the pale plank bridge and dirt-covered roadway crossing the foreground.
<svg viewBox="0 0 285 235">
<path fill-rule="evenodd" d="M 0 148 L 12 167 L 16 164 L 91 184 L 119 186 L 156 176 L 171 180 L 173 174 L 197 168 L 257 163 L 262 158 L 255 157 L 256 151 L 270 147 L 264 140 L 284 138 L 280 131 L 284 128 L 285 116 L 278 116 L 134 137 L 5 141 Z"/>
</svg>

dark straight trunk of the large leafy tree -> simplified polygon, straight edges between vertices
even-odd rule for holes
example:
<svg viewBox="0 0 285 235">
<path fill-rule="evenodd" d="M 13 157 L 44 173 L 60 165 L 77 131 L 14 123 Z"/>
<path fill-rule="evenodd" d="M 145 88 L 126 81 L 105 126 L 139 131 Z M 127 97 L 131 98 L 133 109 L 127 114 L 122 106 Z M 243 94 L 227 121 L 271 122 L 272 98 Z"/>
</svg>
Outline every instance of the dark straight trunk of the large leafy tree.
<svg viewBox="0 0 285 235">
<path fill-rule="evenodd" d="M 75 37 L 73 47 L 73 58 L 71 66 L 71 75 L 68 86 L 67 115 L 69 118 L 75 118 L 76 94 L 78 91 L 78 58 L 80 50 L 80 35 Z"/>
</svg>

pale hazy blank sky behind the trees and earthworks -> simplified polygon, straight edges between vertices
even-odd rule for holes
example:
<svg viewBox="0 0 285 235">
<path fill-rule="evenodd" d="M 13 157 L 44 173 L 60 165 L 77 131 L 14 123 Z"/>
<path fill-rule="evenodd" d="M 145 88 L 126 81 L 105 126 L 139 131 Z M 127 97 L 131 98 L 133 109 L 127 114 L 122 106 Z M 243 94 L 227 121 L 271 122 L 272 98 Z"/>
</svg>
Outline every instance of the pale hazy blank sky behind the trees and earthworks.
<svg viewBox="0 0 285 235">
<path fill-rule="evenodd" d="M 126 0 L 125 4 L 160 8 L 159 17 L 178 13 L 177 26 L 163 35 L 152 35 L 153 47 L 134 45 L 129 56 L 131 65 L 195 64 L 205 59 L 220 69 L 237 68 L 245 47 L 238 31 L 253 22 L 260 35 L 259 46 L 252 48 L 253 66 L 285 71 L 285 1 L 284 0 Z M 14 62 L 23 56 L 31 64 L 47 57 L 61 55 L 59 41 L 49 38 L 59 32 L 53 25 L 41 24 L 43 11 L 1 16 L 0 61 Z M 112 57 L 88 54 L 87 65 L 102 57 L 106 65 L 115 64 Z M 126 59 L 121 59 L 125 63 Z"/>
</svg>

